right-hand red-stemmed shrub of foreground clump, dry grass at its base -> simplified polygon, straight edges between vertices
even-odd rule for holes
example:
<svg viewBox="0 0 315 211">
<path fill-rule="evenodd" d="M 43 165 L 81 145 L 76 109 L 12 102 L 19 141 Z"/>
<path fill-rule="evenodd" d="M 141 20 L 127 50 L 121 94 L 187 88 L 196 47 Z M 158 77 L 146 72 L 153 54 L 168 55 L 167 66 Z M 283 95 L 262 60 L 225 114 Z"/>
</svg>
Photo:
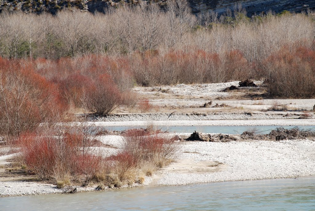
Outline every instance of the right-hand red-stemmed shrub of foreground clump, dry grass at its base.
<svg viewBox="0 0 315 211">
<path fill-rule="evenodd" d="M 169 164 L 176 155 L 177 143 L 161 137 L 157 131 L 132 129 L 124 133 L 124 147 L 117 155 L 106 158 L 106 177 L 95 175 L 109 187 L 142 184 L 159 167 Z"/>
</svg>

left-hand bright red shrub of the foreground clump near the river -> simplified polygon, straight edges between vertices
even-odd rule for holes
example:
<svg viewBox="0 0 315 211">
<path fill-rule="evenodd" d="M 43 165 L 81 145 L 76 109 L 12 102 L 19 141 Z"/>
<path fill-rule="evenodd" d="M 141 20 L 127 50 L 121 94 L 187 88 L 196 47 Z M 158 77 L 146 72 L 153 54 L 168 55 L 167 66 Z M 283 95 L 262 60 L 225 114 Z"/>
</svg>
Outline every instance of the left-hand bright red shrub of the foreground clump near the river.
<svg viewBox="0 0 315 211">
<path fill-rule="evenodd" d="M 103 156 L 84 134 L 59 130 L 43 130 L 39 134 L 25 133 L 17 140 L 26 166 L 42 179 L 75 180 L 83 175 L 86 183 L 102 171 Z"/>
</svg>

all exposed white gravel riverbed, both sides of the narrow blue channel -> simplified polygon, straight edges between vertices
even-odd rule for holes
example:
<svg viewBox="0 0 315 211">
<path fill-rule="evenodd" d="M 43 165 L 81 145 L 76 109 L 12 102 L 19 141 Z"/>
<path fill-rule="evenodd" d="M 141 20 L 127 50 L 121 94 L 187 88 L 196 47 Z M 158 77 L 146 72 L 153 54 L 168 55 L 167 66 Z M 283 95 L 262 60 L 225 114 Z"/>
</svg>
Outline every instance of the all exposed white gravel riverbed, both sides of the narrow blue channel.
<svg viewBox="0 0 315 211">
<path fill-rule="evenodd" d="M 263 81 L 255 81 L 261 86 Z M 222 92 L 238 81 L 203 84 L 175 85 L 164 87 L 136 87 L 134 91 L 148 98 L 158 112 L 131 114 L 119 110 L 122 114 L 89 116 L 89 123 L 95 126 L 313 126 L 315 114 L 312 111 L 315 99 L 239 99 L 242 93 Z M 242 88 L 241 91 L 257 92 L 261 87 Z M 262 89 L 263 90 L 263 89 Z M 248 94 L 248 93 L 247 93 Z M 233 98 L 233 95 L 236 96 Z M 246 96 L 245 96 L 246 97 Z M 226 104 L 226 108 L 202 108 L 204 103 Z M 285 106 L 288 112 L 268 110 L 272 104 Z M 165 108 L 164 108 L 165 107 Z M 186 110 L 181 110 L 186 109 Z M 190 110 L 187 110 L 190 109 Z M 219 109 L 219 110 L 218 110 Z M 173 112 L 175 110 L 175 112 Z M 216 111 L 218 110 L 218 111 Z M 297 112 L 297 111 L 305 111 Z M 235 112 L 234 112 L 235 111 Z M 248 112 L 245 112 L 248 111 Z M 291 111 L 291 112 L 290 112 Z M 140 111 L 135 111 L 140 112 Z M 153 112 L 153 111 L 152 111 Z M 173 112 L 173 113 L 172 113 Z M 304 115 L 304 116 L 303 116 Z M 299 119 L 302 117 L 309 119 Z M 72 124 L 72 123 L 66 123 Z M 179 134 L 179 133 L 177 133 Z M 167 135 L 165 133 L 165 135 Z M 176 133 L 172 133 L 172 136 Z M 183 134 L 181 134 L 183 135 Z M 184 134 L 185 135 L 185 134 Z M 189 135 L 189 134 L 186 134 Z M 98 136 L 107 144 L 104 155 L 112 155 L 121 150 L 123 138 L 118 135 Z M 188 185 L 197 183 L 294 178 L 315 175 L 315 142 L 311 140 L 275 141 L 231 141 L 180 142 L 175 162 L 160 169 L 152 177 L 146 177 L 143 185 Z M 17 154 L 15 154 L 17 155 Z M 0 156 L 0 165 L 6 166 L 14 155 Z M 4 171 L 4 168 L 1 170 Z M 18 178 L 14 178 L 16 180 Z M 138 186 L 135 184 L 134 186 Z M 23 196 L 37 194 L 63 193 L 67 189 L 77 191 L 95 191 L 95 186 L 72 186 L 57 189 L 56 185 L 27 182 L 0 181 L 0 196 Z M 1 199 L 0 199 L 1 201 Z M 1 208 L 0 208 L 1 209 Z"/>
</svg>

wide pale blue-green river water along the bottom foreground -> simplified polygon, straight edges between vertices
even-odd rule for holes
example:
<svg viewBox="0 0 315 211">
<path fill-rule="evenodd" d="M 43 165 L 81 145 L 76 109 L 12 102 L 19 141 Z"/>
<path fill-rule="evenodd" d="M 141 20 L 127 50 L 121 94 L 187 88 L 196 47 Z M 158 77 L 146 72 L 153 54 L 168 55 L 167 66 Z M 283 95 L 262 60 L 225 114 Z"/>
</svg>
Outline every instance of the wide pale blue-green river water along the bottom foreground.
<svg viewBox="0 0 315 211">
<path fill-rule="evenodd" d="M 315 210 L 315 178 L 0 198 L 0 210 Z"/>
</svg>

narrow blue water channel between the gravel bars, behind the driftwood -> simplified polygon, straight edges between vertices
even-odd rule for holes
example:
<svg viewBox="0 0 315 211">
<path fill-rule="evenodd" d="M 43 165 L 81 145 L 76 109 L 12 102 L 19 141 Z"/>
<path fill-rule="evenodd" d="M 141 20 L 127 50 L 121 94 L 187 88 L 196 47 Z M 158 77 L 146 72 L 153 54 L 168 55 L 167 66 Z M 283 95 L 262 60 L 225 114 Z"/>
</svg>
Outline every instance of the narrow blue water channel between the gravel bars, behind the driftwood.
<svg viewBox="0 0 315 211">
<path fill-rule="evenodd" d="M 108 131 L 123 131 L 127 129 L 140 128 L 141 126 L 106 126 L 102 127 Z M 225 133 L 225 134 L 241 134 L 244 131 L 257 129 L 260 134 L 268 134 L 272 129 L 281 126 L 157 126 L 157 129 L 168 132 L 188 132 L 194 131 L 204 133 Z M 296 126 L 282 126 L 285 129 L 290 129 Z M 312 129 L 315 131 L 315 126 L 298 126 L 300 129 Z"/>
</svg>

